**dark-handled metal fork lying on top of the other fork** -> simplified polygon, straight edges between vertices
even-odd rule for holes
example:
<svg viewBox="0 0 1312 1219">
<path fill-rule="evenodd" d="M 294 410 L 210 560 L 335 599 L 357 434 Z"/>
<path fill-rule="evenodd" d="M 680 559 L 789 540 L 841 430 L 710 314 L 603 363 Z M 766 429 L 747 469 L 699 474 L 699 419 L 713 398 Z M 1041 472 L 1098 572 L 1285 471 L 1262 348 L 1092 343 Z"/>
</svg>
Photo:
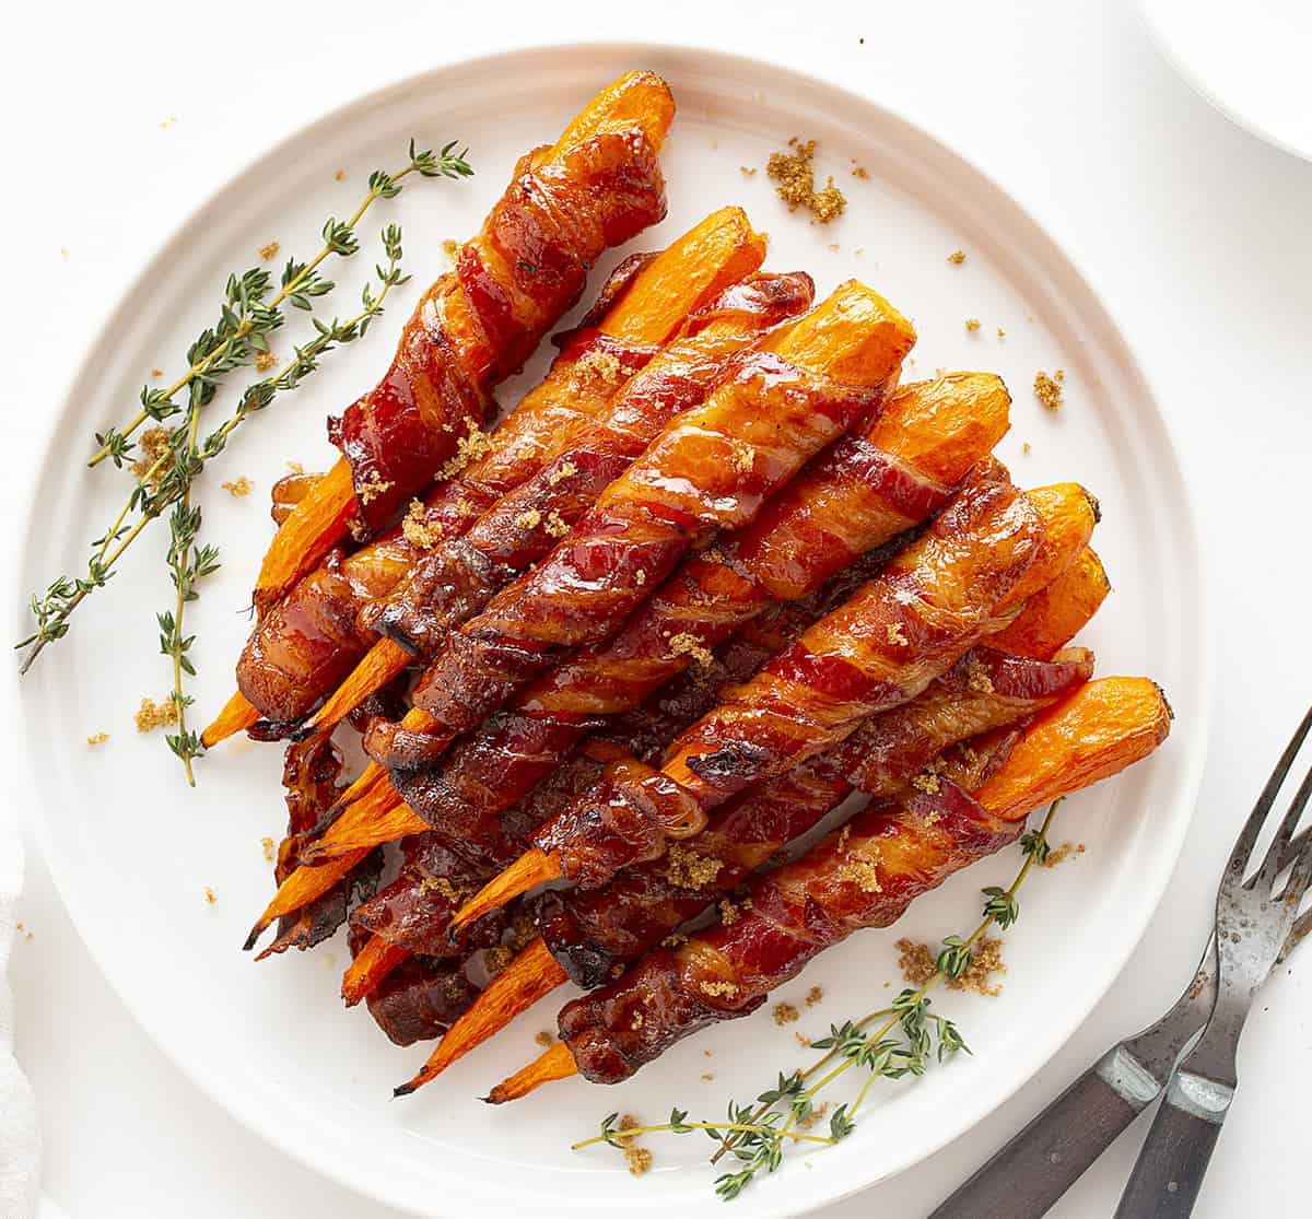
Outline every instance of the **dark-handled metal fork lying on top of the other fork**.
<svg viewBox="0 0 1312 1219">
<path fill-rule="evenodd" d="M 1203 1184 L 1212 1148 L 1239 1083 L 1235 1056 L 1253 995 L 1281 957 L 1298 921 L 1299 903 L 1312 883 L 1312 848 L 1295 856 L 1277 891 L 1284 854 L 1312 798 L 1309 768 L 1281 819 L 1275 840 L 1252 883 L 1245 883 L 1253 848 L 1284 778 L 1312 727 L 1304 716 L 1262 789 L 1231 853 L 1216 894 L 1216 1002 L 1198 1043 L 1176 1065 L 1115 1219 L 1172 1219 L 1189 1215 Z"/>
</svg>

